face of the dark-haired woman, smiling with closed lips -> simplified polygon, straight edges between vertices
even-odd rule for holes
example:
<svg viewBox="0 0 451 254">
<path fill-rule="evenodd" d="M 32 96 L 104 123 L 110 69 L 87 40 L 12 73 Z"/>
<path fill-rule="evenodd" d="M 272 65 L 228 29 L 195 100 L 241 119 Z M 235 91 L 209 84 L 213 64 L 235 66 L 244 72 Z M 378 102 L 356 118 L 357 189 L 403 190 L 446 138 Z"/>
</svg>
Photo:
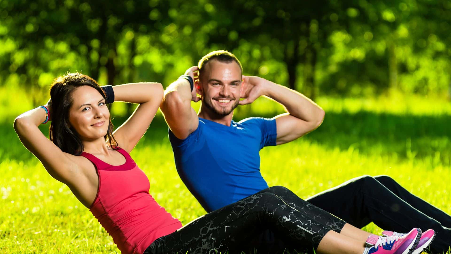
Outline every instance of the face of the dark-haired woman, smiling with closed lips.
<svg viewBox="0 0 451 254">
<path fill-rule="evenodd" d="M 95 140 L 106 135 L 110 122 L 110 111 L 105 99 L 93 87 L 83 85 L 72 93 L 69 109 L 69 125 L 81 140 Z"/>
</svg>

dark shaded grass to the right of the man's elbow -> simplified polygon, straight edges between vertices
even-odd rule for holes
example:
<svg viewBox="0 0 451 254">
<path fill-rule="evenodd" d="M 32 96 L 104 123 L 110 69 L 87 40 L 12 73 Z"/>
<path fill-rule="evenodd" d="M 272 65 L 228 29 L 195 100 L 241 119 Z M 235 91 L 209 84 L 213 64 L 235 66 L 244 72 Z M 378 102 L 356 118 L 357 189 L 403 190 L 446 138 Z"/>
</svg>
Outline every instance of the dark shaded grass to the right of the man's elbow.
<svg viewBox="0 0 451 254">
<path fill-rule="evenodd" d="M 364 154 L 396 153 L 406 159 L 431 156 L 449 166 L 451 116 L 327 113 L 322 125 L 305 138 L 330 148 L 351 147 Z"/>
</svg>

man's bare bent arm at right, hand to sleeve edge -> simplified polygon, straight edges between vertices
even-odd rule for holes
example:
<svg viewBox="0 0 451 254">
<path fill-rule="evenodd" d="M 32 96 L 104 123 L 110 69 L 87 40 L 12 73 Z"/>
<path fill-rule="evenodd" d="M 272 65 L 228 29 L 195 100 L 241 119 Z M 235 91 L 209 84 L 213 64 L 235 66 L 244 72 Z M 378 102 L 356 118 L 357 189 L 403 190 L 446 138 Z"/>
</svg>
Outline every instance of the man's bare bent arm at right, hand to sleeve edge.
<svg viewBox="0 0 451 254">
<path fill-rule="evenodd" d="M 276 144 L 293 141 L 321 125 L 324 110 L 299 92 L 254 76 L 243 76 L 241 105 L 253 102 L 261 95 L 281 103 L 288 113 L 276 116 Z"/>
</svg>

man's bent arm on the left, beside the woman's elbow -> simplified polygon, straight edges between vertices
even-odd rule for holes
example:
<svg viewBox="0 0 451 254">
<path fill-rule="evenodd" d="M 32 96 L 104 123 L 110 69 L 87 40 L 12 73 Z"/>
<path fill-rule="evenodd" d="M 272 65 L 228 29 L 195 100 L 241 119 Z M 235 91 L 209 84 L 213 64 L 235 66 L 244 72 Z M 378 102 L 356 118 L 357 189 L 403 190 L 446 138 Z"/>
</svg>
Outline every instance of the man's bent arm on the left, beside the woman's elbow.
<svg viewBox="0 0 451 254">
<path fill-rule="evenodd" d="M 194 71 L 198 71 L 197 66 L 189 68 L 185 74 L 190 75 L 194 80 Z M 179 139 L 187 138 L 199 125 L 199 118 L 191 107 L 191 101 L 198 102 L 200 98 L 197 97 L 195 88 L 193 91 L 190 89 L 188 80 L 175 80 L 166 88 L 160 104 L 166 123 Z"/>
</svg>

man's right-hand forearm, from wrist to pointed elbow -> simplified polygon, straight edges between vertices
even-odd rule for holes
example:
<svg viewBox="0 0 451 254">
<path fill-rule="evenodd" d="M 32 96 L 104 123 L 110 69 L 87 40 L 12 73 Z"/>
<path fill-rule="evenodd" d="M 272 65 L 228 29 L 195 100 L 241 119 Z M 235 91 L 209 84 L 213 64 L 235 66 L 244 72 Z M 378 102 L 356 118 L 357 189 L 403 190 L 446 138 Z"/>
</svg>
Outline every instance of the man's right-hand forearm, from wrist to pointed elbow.
<svg viewBox="0 0 451 254">
<path fill-rule="evenodd" d="M 304 121 L 317 121 L 318 118 L 322 118 L 324 115 L 322 108 L 304 94 L 271 81 L 267 83 L 267 92 L 265 94 L 267 97 L 281 103 L 290 115 Z"/>
</svg>

